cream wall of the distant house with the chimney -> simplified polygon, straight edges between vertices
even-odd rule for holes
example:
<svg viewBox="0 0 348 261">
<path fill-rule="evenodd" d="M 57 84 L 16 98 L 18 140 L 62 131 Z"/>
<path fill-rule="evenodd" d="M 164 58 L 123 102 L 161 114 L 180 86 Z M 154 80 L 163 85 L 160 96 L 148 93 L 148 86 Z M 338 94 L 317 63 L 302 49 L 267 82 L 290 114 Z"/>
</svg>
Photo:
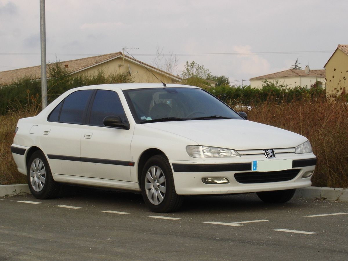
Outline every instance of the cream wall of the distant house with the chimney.
<svg viewBox="0 0 348 261">
<path fill-rule="evenodd" d="M 289 88 L 293 88 L 295 86 L 301 86 L 301 87 L 306 87 L 310 88 L 311 85 L 315 84 L 316 81 L 321 81 L 322 87 L 325 88 L 325 78 L 316 78 L 316 77 L 306 77 L 306 76 L 298 76 L 298 77 L 282 77 L 282 78 L 274 78 L 274 79 L 267 79 L 270 82 L 274 82 L 276 83 L 276 81 L 278 80 L 278 85 L 283 84 L 283 85 L 287 85 L 287 87 Z M 264 79 L 261 80 L 251 80 L 250 81 L 250 85 L 251 88 L 262 88 L 262 81 L 264 81 Z"/>
</svg>

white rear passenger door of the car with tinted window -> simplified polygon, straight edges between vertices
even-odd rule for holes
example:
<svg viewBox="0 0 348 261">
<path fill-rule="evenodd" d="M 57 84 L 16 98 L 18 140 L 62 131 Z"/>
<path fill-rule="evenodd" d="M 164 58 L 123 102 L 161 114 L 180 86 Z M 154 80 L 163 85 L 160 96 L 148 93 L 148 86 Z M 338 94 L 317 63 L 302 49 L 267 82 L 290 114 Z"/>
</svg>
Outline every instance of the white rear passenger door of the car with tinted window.
<svg viewBox="0 0 348 261">
<path fill-rule="evenodd" d="M 47 154 L 51 171 L 61 175 L 82 172 L 80 142 L 86 109 L 93 90 L 78 90 L 66 97 L 42 126 L 40 144 Z"/>
</svg>

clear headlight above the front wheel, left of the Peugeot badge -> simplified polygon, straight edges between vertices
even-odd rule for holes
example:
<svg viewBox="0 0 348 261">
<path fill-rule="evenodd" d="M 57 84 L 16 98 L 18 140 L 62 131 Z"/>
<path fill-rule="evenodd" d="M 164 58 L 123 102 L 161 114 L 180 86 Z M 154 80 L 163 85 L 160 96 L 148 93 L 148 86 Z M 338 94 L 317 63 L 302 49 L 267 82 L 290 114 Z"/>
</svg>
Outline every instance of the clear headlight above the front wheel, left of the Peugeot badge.
<svg viewBox="0 0 348 261">
<path fill-rule="evenodd" d="M 239 153 L 235 150 L 199 146 L 199 145 L 188 145 L 186 146 L 188 155 L 193 158 L 232 158 L 240 157 Z"/>
</svg>

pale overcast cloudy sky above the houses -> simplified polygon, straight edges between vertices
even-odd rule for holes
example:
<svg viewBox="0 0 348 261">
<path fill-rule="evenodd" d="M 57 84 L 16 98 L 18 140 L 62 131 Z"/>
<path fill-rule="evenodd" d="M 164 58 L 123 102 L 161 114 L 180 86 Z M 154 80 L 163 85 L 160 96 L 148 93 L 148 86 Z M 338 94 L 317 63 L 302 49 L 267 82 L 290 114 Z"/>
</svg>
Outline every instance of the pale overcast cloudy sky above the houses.
<svg viewBox="0 0 348 261">
<path fill-rule="evenodd" d="M 203 65 L 232 85 L 287 70 L 323 69 L 348 44 L 346 0 L 46 0 L 47 62 L 121 52 L 155 65 Z M 163 61 L 164 61 L 163 59 Z M 0 0 L 0 71 L 40 65 L 40 1 Z"/>
</svg>

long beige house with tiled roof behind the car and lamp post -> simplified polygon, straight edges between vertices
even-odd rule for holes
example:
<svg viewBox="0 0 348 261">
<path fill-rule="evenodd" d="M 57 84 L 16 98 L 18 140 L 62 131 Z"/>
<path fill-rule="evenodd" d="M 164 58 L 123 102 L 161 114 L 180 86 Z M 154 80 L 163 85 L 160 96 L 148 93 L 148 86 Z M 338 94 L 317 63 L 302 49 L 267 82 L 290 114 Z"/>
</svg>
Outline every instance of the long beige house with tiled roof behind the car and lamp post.
<svg viewBox="0 0 348 261">
<path fill-rule="evenodd" d="M 139 62 L 121 52 L 58 62 L 58 65 L 74 75 L 96 74 L 98 71 L 102 70 L 106 75 L 128 72 L 134 82 L 158 82 L 156 77 L 164 83 L 181 81 L 180 77 L 162 71 L 149 64 Z M 155 74 L 156 77 L 153 76 L 150 71 Z M 41 79 L 41 66 L 2 71 L 0 72 L 0 86 L 9 85 L 13 81 L 23 77 L 30 77 L 32 80 Z M 49 78 L 49 74 L 47 77 Z"/>
</svg>

